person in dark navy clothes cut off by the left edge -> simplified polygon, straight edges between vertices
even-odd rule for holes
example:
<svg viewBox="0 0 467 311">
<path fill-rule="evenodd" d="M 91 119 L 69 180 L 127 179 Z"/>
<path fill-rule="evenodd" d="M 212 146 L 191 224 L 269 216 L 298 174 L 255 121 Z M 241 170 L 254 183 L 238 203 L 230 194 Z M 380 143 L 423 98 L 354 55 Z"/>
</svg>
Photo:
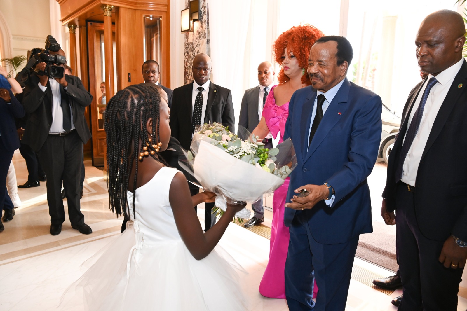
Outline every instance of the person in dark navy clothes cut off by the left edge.
<svg viewBox="0 0 467 311">
<path fill-rule="evenodd" d="M 14 118 L 23 116 L 24 109 L 13 96 L 13 92 L 0 88 L 0 211 L 7 209 L 5 213 L 9 212 L 12 215 L 14 215 L 13 203 L 8 196 L 6 181 L 14 150 L 20 148 Z M 0 232 L 4 229 L 0 219 Z"/>
</svg>

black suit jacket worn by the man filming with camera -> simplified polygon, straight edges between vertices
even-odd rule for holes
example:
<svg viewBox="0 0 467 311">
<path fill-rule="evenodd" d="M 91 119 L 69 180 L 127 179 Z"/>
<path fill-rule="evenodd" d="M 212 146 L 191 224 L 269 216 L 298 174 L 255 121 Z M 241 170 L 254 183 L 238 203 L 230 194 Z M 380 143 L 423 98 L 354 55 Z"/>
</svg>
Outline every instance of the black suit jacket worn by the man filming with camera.
<svg viewBox="0 0 467 311">
<path fill-rule="evenodd" d="M 92 95 L 86 91 L 81 80 L 75 76 L 65 75 L 68 82 L 67 90 L 60 85 L 62 98 L 67 99 L 73 113 L 73 124 L 83 143 L 91 138 L 91 132 L 85 120 L 85 108 L 91 105 Z M 38 85 L 39 78 L 31 76 L 31 82 L 24 89 L 22 104 L 29 119 L 24 131 L 23 143 L 28 144 L 34 151 L 42 148 L 52 125 L 52 91 L 50 82 L 43 92 Z"/>
</svg>

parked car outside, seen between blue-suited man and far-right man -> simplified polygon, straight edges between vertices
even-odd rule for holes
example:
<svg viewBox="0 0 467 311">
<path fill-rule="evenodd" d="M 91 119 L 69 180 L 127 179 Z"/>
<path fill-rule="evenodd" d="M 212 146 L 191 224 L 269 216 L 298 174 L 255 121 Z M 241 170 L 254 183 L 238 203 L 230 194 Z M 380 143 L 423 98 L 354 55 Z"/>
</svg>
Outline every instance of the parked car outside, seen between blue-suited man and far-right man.
<svg viewBox="0 0 467 311">
<path fill-rule="evenodd" d="M 378 157 L 388 164 L 389 153 L 394 146 L 396 134 L 399 133 L 399 127 L 401 126 L 401 118 L 382 104 L 381 120 L 382 131 Z"/>
</svg>

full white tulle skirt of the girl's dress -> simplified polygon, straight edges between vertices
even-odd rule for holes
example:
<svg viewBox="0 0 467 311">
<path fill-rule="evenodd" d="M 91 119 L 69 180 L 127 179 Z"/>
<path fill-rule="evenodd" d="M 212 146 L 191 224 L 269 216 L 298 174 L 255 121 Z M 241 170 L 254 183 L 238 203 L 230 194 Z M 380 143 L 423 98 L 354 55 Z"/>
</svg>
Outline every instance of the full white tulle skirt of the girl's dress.
<svg viewBox="0 0 467 311">
<path fill-rule="evenodd" d="M 65 291 L 59 309 L 248 310 L 237 271 L 243 269 L 221 247 L 198 261 L 182 240 L 147 246 L 140 239 L 129 226 L 92 256 L 87 262 L 95 263 Z"/>
</svg>

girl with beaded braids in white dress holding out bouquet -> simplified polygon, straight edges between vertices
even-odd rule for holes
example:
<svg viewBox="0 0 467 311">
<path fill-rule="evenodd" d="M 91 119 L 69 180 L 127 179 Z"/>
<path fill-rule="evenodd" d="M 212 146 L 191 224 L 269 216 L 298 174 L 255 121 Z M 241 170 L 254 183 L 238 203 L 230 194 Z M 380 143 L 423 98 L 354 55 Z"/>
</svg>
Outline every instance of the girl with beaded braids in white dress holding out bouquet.
<svg viewBox="0 0 467 311">
<path fill-rule="evenodd" d="M 89 310 L 247 310 L 236 271 L 213 250 L 245 205 L 227 205 L 203 232 L 193 206 L 214 194 L 191 197 L 184 175 L 158 155 L 169 143 L 169 113 L 150 85 L 128 86 L 107 104 L 110 206 L 130 220 L 73 284 Z"/>
</svg>

